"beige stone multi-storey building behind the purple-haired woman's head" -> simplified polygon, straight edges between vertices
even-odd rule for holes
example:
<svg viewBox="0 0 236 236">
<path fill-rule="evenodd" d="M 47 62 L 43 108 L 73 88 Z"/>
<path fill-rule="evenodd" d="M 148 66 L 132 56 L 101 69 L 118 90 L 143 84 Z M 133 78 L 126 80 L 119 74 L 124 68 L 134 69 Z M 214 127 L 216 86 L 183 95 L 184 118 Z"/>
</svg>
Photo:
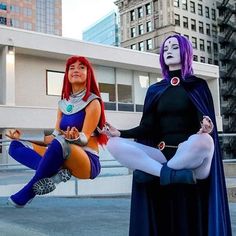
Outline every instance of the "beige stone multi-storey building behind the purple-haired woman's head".
<svg viewBox="0 0 236 236">
<path fill-rule="evenodd" d="M 159 53 L 164 38 L 190 39 L 194 60 L 218 64 L 217 11 L 214 0 L 117 0 L 121 47 Z"/>
</svg>

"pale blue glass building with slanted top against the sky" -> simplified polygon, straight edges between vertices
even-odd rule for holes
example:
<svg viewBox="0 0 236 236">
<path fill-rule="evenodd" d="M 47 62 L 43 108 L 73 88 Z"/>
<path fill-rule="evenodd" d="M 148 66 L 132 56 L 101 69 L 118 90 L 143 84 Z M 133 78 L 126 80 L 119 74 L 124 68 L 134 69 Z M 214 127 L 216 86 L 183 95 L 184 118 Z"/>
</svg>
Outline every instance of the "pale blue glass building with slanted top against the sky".
<svg viewBox="0 0 236 236">
<path fill-rule="evenodd" d="M 83 40 L 119 46 L 117 13 L 111 12 L 83 32 Z"/>
</svg>

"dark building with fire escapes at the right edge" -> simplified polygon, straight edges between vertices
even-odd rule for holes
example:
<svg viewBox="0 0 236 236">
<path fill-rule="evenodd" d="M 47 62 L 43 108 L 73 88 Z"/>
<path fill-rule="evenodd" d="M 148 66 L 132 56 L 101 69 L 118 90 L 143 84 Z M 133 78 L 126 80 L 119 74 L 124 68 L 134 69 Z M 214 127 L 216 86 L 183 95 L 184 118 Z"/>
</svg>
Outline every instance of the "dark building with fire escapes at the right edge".
<svg viewBox="0 0 236 236">
<path fill-rule="evenodd" d="M 236 1 L 217 2 L 220 28 L 220 84 L 223 129 L 226 133 L 236 133 Z M 224 156 L 236 156 L 236 136 L 223 140 Z"/>
</svg>

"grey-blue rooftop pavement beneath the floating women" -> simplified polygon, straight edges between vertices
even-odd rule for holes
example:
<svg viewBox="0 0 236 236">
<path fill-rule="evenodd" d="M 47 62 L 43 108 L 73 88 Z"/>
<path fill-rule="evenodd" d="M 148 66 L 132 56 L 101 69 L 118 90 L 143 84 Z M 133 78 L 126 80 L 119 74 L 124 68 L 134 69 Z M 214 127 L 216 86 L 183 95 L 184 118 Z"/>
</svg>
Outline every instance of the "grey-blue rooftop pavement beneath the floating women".
<svg viewBox="0 0 236 236">
<path fill-rule="evenodd" d="M 25 208 L 13 208 L 0 197 L 1 236 L 128 236 L 129 197 L 37 197 Z M 236 203 L 230 203 L 236 235 Z"/>
</svg>

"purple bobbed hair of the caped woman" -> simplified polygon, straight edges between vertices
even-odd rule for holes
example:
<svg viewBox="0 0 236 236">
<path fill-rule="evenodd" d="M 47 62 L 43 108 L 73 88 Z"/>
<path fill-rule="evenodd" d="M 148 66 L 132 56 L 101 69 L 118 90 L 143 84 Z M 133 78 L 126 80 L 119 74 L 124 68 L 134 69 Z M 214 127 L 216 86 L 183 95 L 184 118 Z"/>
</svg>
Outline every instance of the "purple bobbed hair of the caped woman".
<svg viewBox="0 0 236 236">
<path fill-rule="evenodd" d="M 193 62 L 193 47 L 190 41 L 182 36 L 182 35 L 171 35 L 165 39 L 161 46 L 160 50 L 160 64 L 161 64 L 161 70 L 162 70 L 162 75 L 165 79 L 169 78 L 169 67 L 165 64 L 164 61 L 164 45 L 166 40 L 169 38 L 176 38 L 179 42 L 179 49 L 180 49 L 180 59 L 181 59 L 181 74 L 183 79 L 185 79 L 187 76 L 190 76 L 193 74 L 193 68 L 192 68 L 192 62 Z"/>
</svg>

